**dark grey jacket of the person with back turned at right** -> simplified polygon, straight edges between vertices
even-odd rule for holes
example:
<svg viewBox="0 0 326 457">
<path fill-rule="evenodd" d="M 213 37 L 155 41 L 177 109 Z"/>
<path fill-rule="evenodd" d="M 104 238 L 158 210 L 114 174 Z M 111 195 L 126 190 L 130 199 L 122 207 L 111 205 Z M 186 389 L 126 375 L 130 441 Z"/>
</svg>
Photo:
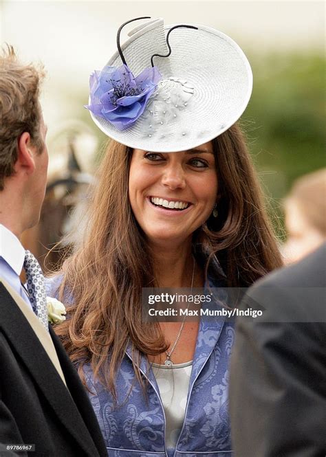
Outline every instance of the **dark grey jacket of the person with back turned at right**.
<svg viewBox="0 0 326 457">
<path fill-rule="evenodd" d="M 237 322 L 230 372 L 235 457 L 326 455 L 325 260 L 323 245 L 248 291 L 243 306 L 265 311 Z"/>
</svg>

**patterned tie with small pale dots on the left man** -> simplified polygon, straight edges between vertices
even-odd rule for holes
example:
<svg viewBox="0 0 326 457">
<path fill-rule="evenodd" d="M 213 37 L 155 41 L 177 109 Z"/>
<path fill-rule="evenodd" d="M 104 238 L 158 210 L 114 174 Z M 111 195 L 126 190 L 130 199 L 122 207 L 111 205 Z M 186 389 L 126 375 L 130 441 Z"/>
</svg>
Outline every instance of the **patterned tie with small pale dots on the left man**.
<svg viewBox="0 0 326 457">
<path fill-rule="evenodd" d="M 39 262 L 33 256 L 32 252 L 28 250 L 25 251 L 24 268 L 28 296 L 30 297 L 33 311 L 39 317 L 45 329 L 49 331 L 44 276 Z"/>
</svg>

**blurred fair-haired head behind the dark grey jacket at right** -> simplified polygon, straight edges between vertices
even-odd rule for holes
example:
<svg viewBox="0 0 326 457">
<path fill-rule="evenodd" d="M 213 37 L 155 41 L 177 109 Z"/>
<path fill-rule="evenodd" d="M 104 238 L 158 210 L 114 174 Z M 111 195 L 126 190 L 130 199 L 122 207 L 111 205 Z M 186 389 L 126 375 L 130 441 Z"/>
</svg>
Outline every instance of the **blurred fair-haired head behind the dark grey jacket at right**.
<svg viewBox="0 0 326 457">
<path fill-rule="evenodd" d="M 285 263 L 301 260 L 326 241 L 326 168 L 296 181 L 285 198 Z"/>
</svg>

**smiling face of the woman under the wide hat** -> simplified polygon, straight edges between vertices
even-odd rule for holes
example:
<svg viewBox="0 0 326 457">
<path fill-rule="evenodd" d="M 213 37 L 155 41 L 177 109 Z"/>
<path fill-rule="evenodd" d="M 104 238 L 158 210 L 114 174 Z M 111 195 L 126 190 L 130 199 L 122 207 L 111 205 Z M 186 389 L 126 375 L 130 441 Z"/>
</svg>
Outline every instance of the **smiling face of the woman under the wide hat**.
<svg viewBox="0 0 326 457">
<path fill-rule="evenodd" d="M 152 243 L 186 241 L 208 219 L 216 198 L 217 171 L 210 142 L 179 153 L 133 151 L 129 200 Z"/>
</svg>

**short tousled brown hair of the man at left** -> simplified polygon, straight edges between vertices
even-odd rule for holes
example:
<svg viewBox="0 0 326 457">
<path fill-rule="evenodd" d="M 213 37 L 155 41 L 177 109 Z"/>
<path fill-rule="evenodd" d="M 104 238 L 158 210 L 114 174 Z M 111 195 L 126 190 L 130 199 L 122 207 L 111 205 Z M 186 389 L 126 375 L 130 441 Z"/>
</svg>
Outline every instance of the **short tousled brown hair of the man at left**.
<svg viewBox="0 0 326 457">
<path fill-rule="evenodd" d="M 22 133 L 30 133 L 32 144 L 39 151 L 43 148 L 39 106 L 43 67 L 22 65 L 13 47 L 7 47 L 0 53 L 0 190 L 4 179 L 14 174 Z"/>
</svg>

